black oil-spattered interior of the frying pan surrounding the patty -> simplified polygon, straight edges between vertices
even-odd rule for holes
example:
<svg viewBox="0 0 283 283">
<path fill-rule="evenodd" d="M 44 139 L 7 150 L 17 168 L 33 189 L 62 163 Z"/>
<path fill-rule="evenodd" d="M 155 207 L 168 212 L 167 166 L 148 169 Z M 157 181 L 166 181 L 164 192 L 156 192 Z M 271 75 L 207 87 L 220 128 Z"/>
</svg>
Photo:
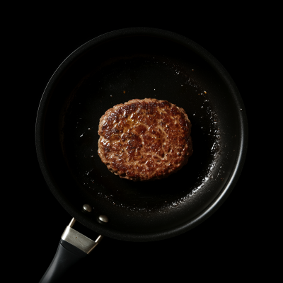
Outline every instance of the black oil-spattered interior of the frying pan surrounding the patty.
<svg viewBox="0 0 283 283">
<path fill-rule="evenodd" d="M 134 98 L 168 100 L 192 122 L 193 154 L 163 180 L 122 179 L 98 156 L 100 117 Z M 54 179 L 69 202 L 91 204 L 119 231 L 157 232 L 190 221 L 219 194 L 236 158 L 239 129 L 228 87 L 204 59 L 165 39 L 122 37 L 89 48 L 59 79 L 48 107 Z"/>
</svg>

